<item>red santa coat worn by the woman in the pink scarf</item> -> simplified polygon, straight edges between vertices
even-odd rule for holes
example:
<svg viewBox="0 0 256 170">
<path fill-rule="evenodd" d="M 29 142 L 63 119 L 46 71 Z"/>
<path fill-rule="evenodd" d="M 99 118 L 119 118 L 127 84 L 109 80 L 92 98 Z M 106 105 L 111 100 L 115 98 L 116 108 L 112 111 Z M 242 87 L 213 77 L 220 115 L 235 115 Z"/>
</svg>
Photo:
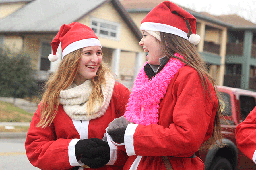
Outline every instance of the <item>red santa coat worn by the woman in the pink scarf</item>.
<svg viewBox="0 0 256 170">
<path fill-rule="evenodd" d="M 124 170 L 166 169 L 161 156 L 169 156 L 174 170 L 203 170 L 204 163 L 193 155 L 213 132 L 218 100 L 207 81 L 204 92 L 195 69 L 185 66 L 177 71 L 159 104 L 158 125 L 129 124 L 125 142 L 117 144 L 129 155 Z M 108 128 L 106 129 L 108 130 Z"/>
</svg>

